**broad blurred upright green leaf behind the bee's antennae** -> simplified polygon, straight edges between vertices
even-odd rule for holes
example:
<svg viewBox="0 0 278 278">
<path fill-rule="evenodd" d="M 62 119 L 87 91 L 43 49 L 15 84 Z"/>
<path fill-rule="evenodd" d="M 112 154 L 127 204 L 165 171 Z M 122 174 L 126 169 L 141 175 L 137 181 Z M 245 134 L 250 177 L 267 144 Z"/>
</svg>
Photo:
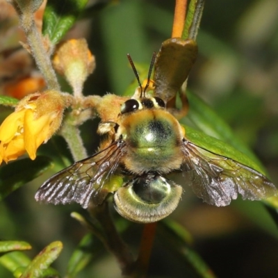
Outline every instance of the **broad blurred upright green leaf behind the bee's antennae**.
<svg viewBox="0 0 278 278">
<path fill-rule="evenodd" d="M 122 95 L 134 74 L 131 69 L 123 66 L 128 65 L 126 54 L 139 63 L 151 59 L 154 48 L 148 43 L 145 32 L 145 6 L 140 1 L 113 1 L 100 14 L 102 40 L 106 49 L 108 71 L 112 92 Z M 128 24 L 132 32 L 119 31 L 121 26 Z M 142 51 L 144 49 L 144 51 Z"/>
</svg>

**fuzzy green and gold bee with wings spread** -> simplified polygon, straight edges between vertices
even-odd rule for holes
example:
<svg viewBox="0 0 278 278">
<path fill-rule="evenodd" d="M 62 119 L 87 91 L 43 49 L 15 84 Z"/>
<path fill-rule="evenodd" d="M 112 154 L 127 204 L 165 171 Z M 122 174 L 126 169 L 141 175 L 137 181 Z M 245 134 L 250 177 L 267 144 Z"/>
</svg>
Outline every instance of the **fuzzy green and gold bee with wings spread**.
<svg viewBox="0 0 278 278">
<path fill-rule="evenodd" d="M 178 44 L 179 48 L 188 42 L 171 39 L 170 44 Z M 195 53 L 195 44 L 189 44 Z M 159 57 L 163 53 L 158 54 L 156 64 L 162 63 Z M 190 63 L 194 62 L 192 57 Z M 54 204 L 76 202 L 87 208 L 90 202 L 99 205 L 113 193 L 120 215 L 147 223 L 165 218 L 179 204 L 183 188 L 170 179 L 172 173 L 181 174 L 183 184 L 192 186 L 197 197 L 215 206 L 227 206 L 239 194 L 252 200 L 277 195 L 275 185 L 257 170 L 190 141 L 161 97 L 161 92 L 167 90 L 166 101 L 172 98 L 185 81 L 188 69 L 174 83 L 171 74 L 156 72 L 157 93 L 150 95 L 147 89 L 152 87 L 153 64 L 154 58 L 147 84 L 142 86 L 131 63 L 139 87 L 120 106 L 115 122 L 99 124 L 99 133 L 107 136 L 99 151 L 55 174 L 42 184 L 35 199 Z"/>
</svg>

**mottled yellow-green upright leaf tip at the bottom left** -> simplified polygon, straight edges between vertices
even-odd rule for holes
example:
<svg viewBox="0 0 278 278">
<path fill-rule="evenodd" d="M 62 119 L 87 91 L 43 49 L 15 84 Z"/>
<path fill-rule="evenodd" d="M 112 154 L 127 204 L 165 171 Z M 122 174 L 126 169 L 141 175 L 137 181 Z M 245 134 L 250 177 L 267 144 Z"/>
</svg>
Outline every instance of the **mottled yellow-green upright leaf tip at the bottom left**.
<svg viewBox="0 0 278 278">
<path fill-rule="evenodd" d="M 54 241 L 44 248 L 27 266 L 21 278 L 41 278 L 49 276 L 44 272 L 53 263 L 63 249 L 60 241 Z"/>
</svg>

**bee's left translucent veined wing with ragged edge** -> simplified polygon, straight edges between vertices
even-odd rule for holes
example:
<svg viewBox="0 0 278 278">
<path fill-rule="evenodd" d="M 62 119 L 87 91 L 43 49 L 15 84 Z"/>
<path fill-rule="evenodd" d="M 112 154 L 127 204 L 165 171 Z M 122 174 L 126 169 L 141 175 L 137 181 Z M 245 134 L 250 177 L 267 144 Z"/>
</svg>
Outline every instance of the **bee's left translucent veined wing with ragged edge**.
<svg viewBox="0 0 278 278">
<path fill-rule="evenodd" d="M 117 170 L 121 156 L 122 146 L 115 142 L 45 181 L 35 194 L 35 199 L 53 204 L 76 202 L 87 208 L 92 197 L 93 202 L 100 204 L 108 194 L 107 190 L 101 188 Z"/>
</svg>

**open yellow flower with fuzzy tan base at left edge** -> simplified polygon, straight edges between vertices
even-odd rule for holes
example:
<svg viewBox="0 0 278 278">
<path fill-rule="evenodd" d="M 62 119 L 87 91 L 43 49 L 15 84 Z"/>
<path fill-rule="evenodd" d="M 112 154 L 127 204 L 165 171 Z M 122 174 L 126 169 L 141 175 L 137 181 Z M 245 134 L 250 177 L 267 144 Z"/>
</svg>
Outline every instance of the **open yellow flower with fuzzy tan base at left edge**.
<svg viewBox="0 0 278 278">
<path fill-rule="evenodd" d="M 59 128 L 64 108 L 63 98 L 55 91 L 22 99 L 0 126 L 0 164 L 25 152 L 34 160 L 38 147 Z"/>
</svg>

